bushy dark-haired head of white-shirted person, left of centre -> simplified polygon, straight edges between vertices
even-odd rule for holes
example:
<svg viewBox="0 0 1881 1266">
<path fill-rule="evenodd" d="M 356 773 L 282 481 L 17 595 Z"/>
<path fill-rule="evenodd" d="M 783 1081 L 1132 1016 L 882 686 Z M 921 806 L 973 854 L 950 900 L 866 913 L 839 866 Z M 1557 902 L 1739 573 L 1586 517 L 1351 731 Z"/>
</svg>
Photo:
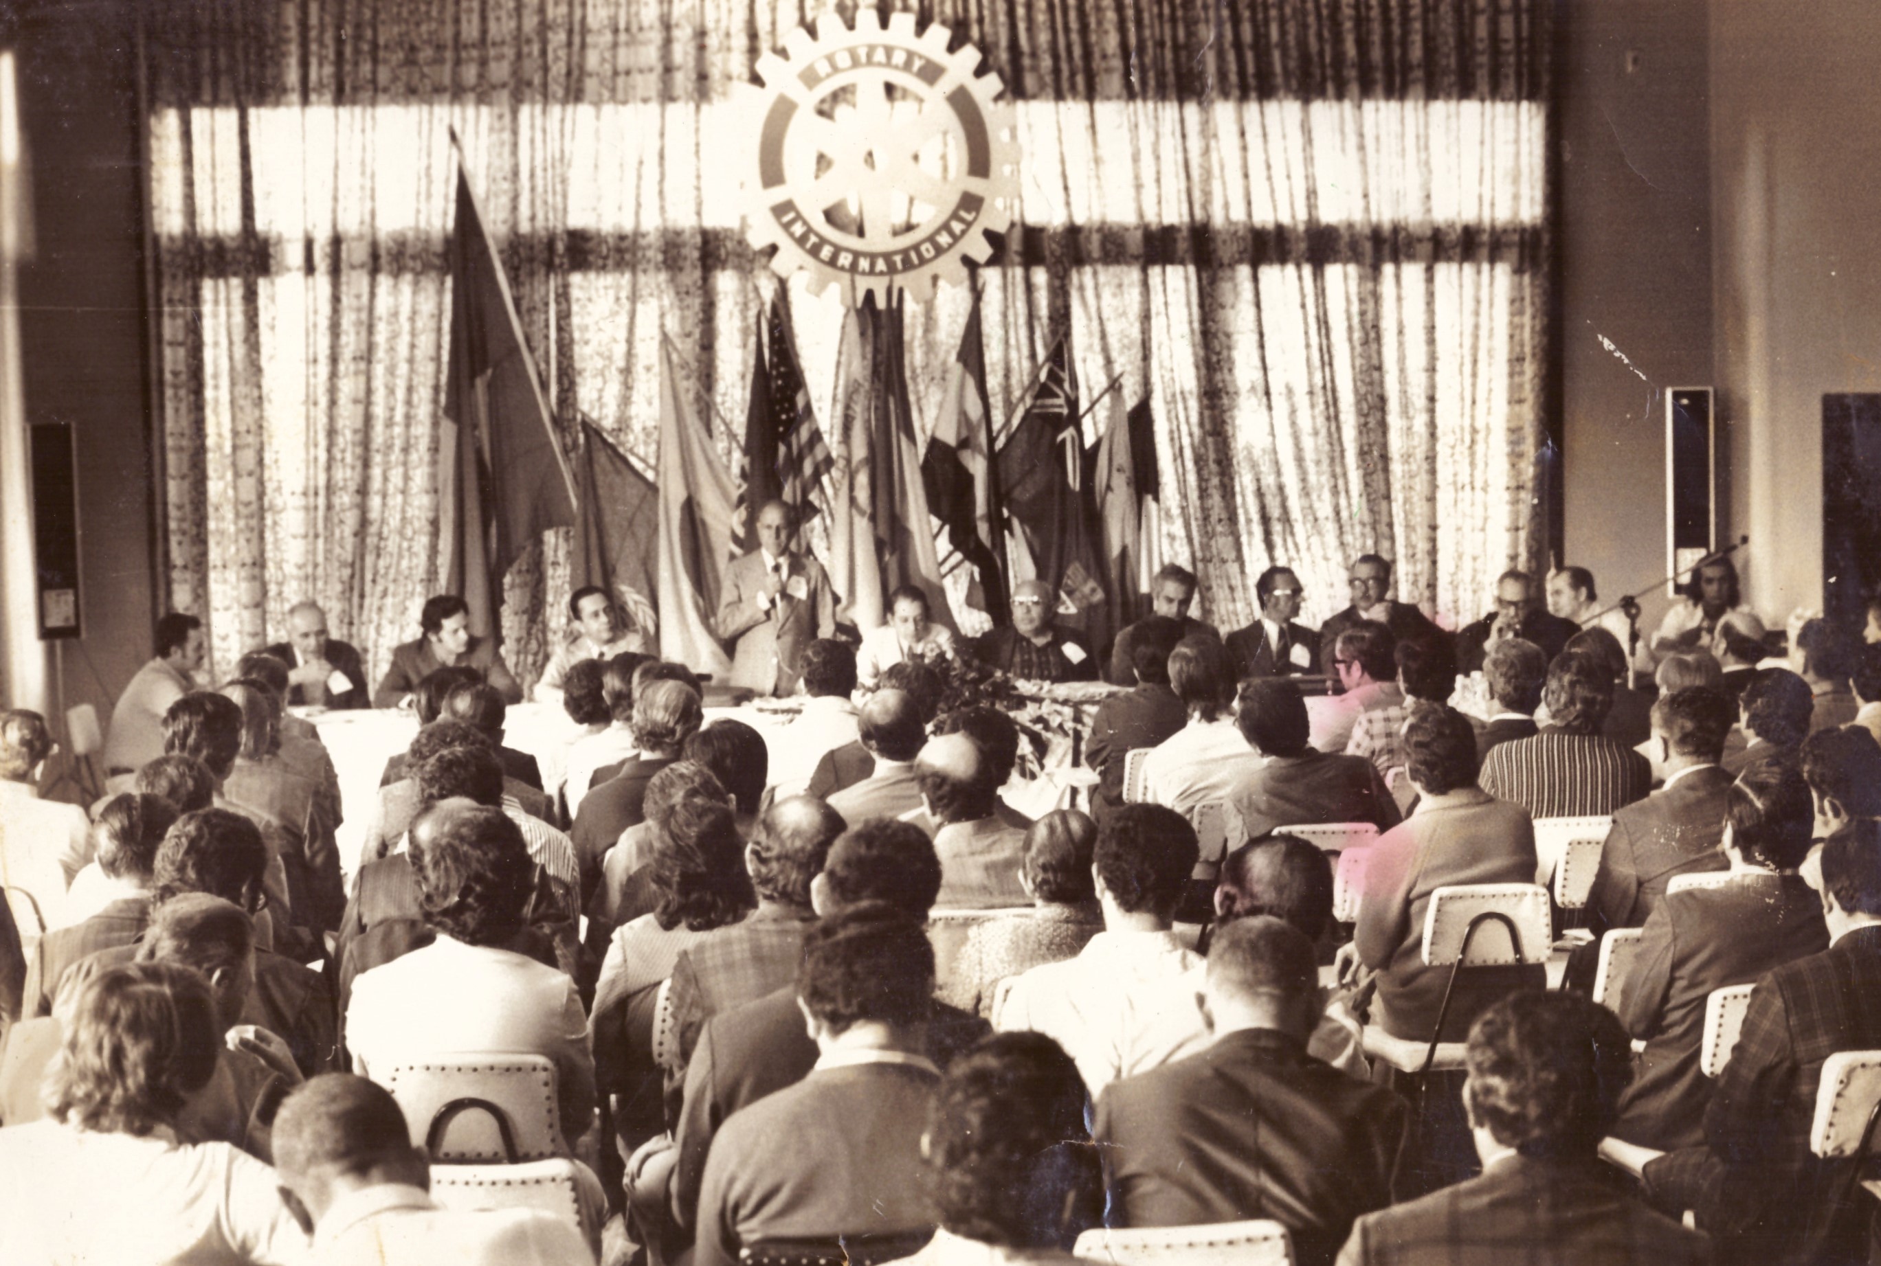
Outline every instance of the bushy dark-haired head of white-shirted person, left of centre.
<svg viewBox="0 0 1881 1266">
<path fill-rule="evenodd" d="M 433 811 L 429 831 L 412 831 L 406 856 L 425 922 L 465 944 L 500 946 L 523 929 L 536 865 L 523 830 L 502 809 Z"/>
</svg>

